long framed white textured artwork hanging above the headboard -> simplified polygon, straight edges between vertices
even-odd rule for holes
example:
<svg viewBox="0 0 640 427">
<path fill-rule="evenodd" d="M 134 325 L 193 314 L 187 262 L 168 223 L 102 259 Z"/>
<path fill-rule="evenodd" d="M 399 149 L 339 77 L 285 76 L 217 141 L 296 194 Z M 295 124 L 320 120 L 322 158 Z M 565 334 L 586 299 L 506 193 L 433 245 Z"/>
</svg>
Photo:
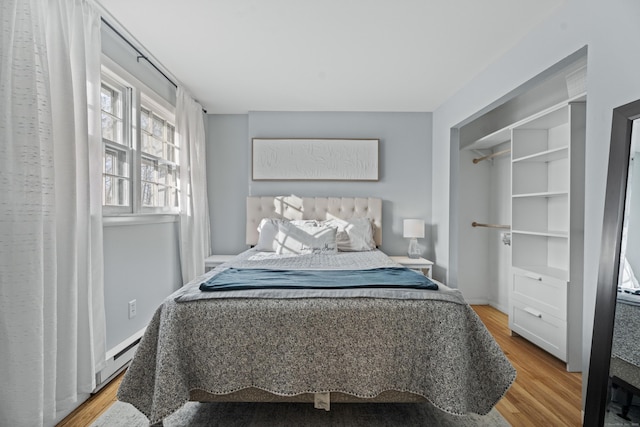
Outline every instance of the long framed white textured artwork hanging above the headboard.
<svg viewBox="0 0 640 427">
<path fill-rule="evenodd" d="M 253 181 L 378 181 L 378 139 L 253 138 Z"/>
</svg>

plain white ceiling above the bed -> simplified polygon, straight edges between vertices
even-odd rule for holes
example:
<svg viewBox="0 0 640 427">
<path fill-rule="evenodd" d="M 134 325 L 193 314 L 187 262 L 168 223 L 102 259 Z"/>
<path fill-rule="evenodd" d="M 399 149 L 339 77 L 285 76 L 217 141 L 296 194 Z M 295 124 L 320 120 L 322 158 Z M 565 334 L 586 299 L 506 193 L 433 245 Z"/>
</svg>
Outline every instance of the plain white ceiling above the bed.
<svg viewBox="0 0 640 427">
<path fill-rule="evenodd" d="M 434 111 L 566 0 L 99 0 L 209 113 Z"/>
</svg>

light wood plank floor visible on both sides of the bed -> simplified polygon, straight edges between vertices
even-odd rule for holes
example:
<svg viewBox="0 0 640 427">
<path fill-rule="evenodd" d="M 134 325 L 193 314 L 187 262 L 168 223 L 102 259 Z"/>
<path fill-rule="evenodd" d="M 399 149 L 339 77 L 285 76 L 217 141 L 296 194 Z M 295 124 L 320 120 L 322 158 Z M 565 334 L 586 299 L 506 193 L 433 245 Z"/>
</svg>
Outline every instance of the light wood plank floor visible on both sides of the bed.
<svg viewBox="0 0 640 427">
<path fill-rule="evenodd" d="M 512 337 L 507 316 L 493 307 L 473 306 L 518 371 L 516 382 L 496 408 L 514 427 L 580 426 L 582 377 L 520 337 Z M 116 400 L 122 374 L 60 422 L 57 427 L 89 426 Z"/>
</svg>

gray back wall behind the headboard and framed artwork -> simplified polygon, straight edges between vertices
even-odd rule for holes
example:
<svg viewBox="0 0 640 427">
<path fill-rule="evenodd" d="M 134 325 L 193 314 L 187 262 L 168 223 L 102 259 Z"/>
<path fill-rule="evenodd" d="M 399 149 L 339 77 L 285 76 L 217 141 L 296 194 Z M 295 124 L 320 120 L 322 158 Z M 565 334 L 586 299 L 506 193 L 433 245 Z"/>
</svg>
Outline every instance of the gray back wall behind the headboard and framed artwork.
<svg viewBox="0 0 640 427">
<path fill-rule="evenodd" d="M 246 249 L 248 195 L 379 197 L 383 199 L 381 249 L 405 254 L 404 218 L 422 218 L 424 255 L 433 255 L 431 233 L 431 114 L 341 112 L 251 112 L 209 115 L 207 180 L 214 253 Z M 251 138 L 377 138 L 376 182 L 252 181 Z"/>
</svg>

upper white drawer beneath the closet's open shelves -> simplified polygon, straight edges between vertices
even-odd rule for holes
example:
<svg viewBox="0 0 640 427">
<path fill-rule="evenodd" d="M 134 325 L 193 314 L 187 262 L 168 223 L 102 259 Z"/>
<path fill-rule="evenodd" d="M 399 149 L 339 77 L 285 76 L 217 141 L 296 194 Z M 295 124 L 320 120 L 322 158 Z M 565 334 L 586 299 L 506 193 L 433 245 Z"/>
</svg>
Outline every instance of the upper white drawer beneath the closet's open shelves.
<svg viewBox="0 0 640 427">
<path fill-rule="evenodd" d="M 526 271 L 513 274 L 510 298 L 567 320 L 567 282 Z"/>
</svg>

